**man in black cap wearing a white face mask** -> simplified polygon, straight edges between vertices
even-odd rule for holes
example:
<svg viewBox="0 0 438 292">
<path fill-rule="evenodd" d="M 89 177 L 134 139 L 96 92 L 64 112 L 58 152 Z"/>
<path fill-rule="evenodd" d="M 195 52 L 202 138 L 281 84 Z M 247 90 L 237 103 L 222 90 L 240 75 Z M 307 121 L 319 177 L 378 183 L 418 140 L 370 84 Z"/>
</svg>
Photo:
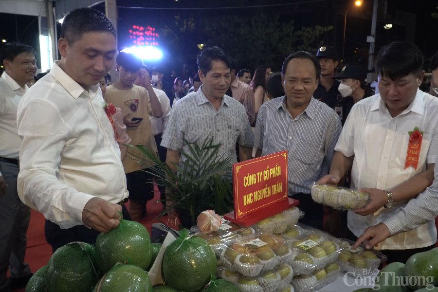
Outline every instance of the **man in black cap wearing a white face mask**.
<svg viewBox="0 0 438 292">
<path fill-rule="evenodd" d="M 338 91 L 343 100 L 340 102 L 341 107 L 337 107 L 336 110 L 340 111 L 338 114 L 342 116 L 341 121 L 344 126 L 353 105 L 372 95 L 369 88 L 365 87 L 366 68 L 361 65 L 347 65 L 342 68 L 339 75 L 331 78 L 339 79 L 341 82 Z"/>
</svg>

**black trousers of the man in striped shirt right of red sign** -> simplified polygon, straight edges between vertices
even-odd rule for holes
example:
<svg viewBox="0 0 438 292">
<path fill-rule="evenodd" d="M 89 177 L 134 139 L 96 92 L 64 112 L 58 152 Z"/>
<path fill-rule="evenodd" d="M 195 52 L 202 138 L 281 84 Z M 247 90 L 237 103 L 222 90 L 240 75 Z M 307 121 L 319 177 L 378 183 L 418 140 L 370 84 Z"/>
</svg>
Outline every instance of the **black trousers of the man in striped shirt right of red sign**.
<svg viewBox="0 0 438 292">
<path fill-rule="evenodd" d="M 300 201 L 298 208 L 305 213 L 304 218 L 299 219 L 300 223 L 317 229 L 323 229 L 324 207 L 312 200 L 310 194 L 299 193 L 290 198 Z"/>
</svg>

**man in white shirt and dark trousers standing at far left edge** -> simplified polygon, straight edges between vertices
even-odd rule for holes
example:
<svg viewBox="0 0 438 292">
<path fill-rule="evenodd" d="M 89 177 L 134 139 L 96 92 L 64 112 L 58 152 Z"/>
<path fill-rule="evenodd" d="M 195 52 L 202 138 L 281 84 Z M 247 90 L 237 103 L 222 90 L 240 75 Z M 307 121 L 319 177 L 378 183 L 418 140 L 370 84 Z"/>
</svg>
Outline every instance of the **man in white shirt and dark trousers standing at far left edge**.
<svg viewBox="0 0 438 292">
<path fill-rule="evenodd" d="M 34 49 L 21 43 L 4 44 L 0 51 L 4 72 L 0 78 L 0 292 L 25 287 L 32 273 L 24 262 L 31 211 L 17 193 L 21 139 L 17 108 L 27 82 L 34 79 Z M 7 271 L 10 267 L 9 285 Z"/>
</svg>

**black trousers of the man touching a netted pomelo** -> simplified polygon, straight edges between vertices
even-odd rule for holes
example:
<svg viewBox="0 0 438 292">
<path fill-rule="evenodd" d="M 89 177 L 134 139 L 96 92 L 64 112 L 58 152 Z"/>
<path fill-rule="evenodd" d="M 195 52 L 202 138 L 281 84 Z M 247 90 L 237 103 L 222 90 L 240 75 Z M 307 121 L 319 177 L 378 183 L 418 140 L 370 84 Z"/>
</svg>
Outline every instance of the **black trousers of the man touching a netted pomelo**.
<svg viewBox="0 0 438 292">
<path fill-rule="evenodd" d="M 123 219 L 131 220 L 128 209 L 125 205 L 122 206 Z M 86 227 L 85 225 L 76 225 L 72 228 L 61 229 L 59 225 L 46 219 L 44 224 L 44 234 L 46 241 L 52 246 L 52 252 L 67 243 L 73 241 L 82 241 L 96 244 L 96 238 L 100 234 L 99 231 Z"/>
</svg>

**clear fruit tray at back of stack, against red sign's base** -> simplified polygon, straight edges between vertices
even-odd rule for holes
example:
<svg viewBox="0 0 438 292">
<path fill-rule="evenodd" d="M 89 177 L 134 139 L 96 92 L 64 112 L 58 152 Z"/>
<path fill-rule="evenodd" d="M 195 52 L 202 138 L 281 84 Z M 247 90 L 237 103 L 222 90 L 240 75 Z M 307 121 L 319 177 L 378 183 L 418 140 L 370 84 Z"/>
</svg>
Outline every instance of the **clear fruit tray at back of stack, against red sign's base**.
<svg viewBox="0 0 438 292">
<path fill-rule="evenodd" d="M 298 223 L 298 219 L 302 218 L 304 213 L 297 207 L 292 207 L 288 210 L 280 212 L 274 216 L 263 219 L 253 226 L 256 231 L 266 231 L 274 234 L 282 234 L 288 226 L 293 226 Z"/>
</svg>

